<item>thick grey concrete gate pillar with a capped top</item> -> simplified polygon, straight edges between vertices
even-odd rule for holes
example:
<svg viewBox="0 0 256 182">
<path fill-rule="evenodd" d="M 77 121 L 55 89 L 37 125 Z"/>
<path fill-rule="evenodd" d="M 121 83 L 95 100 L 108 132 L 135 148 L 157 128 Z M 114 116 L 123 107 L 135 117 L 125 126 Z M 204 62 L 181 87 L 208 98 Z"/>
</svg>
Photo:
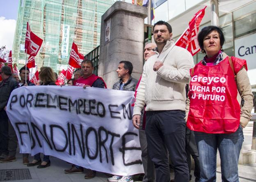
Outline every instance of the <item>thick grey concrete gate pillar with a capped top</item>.
<svg viewBox="0 0 256 182">
<path fill-rule="evenodd" d="M 117 1 L 101 17 L 101 43 L 98 76 L 107 88 L 119 79 L 119 62 L 133 63 L 132 76 L 139 79 L 143 70 L 144 18 L 147 8 Z"/>
</svg>

